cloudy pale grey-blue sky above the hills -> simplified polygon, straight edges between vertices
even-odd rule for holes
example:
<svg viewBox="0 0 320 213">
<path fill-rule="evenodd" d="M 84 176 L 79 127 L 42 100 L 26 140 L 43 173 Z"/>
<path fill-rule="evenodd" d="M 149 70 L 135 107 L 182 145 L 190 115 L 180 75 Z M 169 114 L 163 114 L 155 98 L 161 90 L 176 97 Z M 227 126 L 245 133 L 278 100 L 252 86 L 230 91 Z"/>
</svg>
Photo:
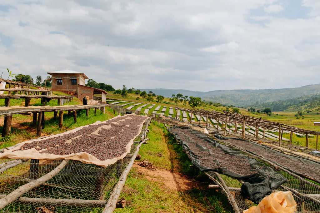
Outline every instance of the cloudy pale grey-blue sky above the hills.
<svg viewBox="0 0 320 213">
<path fill-rule="evenodd" d="M 1 0 L 0 72 L 70 69 L 120 89 L 319 82 L 319 0 Z"/>
</svg>

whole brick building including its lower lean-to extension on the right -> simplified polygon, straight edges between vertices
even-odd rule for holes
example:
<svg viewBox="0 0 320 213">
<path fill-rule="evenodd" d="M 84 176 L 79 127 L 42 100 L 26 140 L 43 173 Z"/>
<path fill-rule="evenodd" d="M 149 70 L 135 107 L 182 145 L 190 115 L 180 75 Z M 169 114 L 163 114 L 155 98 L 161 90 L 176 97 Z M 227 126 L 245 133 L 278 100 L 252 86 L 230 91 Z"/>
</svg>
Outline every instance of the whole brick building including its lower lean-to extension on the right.
<svg viewBox="0 0 320 213">
<path fill-rule="evenodd" d="M 95 99 L 94 95 L 99 94 L 99 100 L 102 103 L 106 103 L 106 95 L 108 94 L 104 90 L 100 90 L 93 87 L 85 86 L 85 79 L 89 79 L 84 73 L 72 71 L 72 70 L 60 70 L 54 72 L 48 72 L 51 75 L 51 90 L 61 91 L 71 95 L 76 95 L 79 100 L 89 96 L 90 99 Z"/>
</svg>

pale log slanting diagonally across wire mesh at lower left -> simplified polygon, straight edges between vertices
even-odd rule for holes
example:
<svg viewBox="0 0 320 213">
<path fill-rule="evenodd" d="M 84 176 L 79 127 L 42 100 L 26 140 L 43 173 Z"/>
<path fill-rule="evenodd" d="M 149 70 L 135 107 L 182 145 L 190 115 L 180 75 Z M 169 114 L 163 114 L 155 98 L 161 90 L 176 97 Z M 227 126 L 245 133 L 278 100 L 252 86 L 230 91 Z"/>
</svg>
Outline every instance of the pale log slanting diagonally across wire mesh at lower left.
<svg viewBox="0 0 320 213">
<path fill-rule="evenodd" d="M 3 209 L 6 205 L 17 200 L 22 194 L 28 192 L 30 189 L 33 189 L 33 188 L 43 184 L 45 181 L 51 179 L 53 176 L 58 174 L 66 166 L 68 161 L 69 161 L 68 159 L 63 160 L 59 166 L 57 166 L 54 170 L 52 170 L 48 174 L 40 177 L 39 179 L 33 180 L 25 185 L 18 187 L 16 190 L 9 193 L 4 198 L 0 199 L 0 209 Z"/>
</svg>

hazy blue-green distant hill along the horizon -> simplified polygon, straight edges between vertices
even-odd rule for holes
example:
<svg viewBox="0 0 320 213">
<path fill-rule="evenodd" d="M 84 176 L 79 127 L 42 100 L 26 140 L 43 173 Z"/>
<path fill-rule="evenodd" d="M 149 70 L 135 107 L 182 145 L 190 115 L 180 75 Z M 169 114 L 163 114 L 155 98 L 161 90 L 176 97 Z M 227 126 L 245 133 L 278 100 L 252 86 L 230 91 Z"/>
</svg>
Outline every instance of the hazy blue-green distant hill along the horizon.
<svg viewBox="0 0 320 213">
<path fill-rule="evenodd" d="M 172 89 L 140 89 L 152 91 L 157 95 L 171 97 L 172 94 L 181 93 L 193 97 L 200 97 L 205 101 L 217 102 L 225 105 L 248 106 L 259 103 L 274 102 L 302 97 L 305 95 L 320 94 L 320 84 L 311 84 L 297 88 L 263 89 L 263 90 L 216 90 L 209 92 L 172 90 Z"/>
</svg>

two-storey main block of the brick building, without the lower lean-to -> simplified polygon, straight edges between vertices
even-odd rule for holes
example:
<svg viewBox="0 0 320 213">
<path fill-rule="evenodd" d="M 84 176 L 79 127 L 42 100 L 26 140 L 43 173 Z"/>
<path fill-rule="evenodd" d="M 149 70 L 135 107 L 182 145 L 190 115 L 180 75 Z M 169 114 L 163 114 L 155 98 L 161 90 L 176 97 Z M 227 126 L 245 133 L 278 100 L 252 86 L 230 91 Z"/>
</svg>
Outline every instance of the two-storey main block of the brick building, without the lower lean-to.
<svg viewBox="0 0 320 213">
<path fill-rule="evenodd" d="M 51 75 L 51 89 L 61 91 L 71 95 L 76 95 L 78 84 L 84 85 L 85 79 L 89 79 L 84 73 L 72 70 L 60 70 L 48 72 Z"/>
</svg>

